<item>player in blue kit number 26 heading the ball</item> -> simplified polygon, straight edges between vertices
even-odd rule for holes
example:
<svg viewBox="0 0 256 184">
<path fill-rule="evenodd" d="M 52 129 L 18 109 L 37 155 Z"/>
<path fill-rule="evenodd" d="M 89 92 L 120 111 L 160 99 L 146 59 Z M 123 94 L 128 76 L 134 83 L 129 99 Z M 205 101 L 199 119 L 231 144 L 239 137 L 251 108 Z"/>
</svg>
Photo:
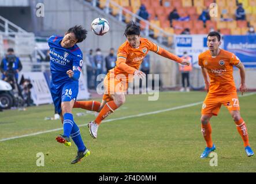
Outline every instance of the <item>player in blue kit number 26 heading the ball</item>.
<svg viewBox="0 0 256 184">
<path fill-rule="evenodd" d="M 50 47 L 51 97 L 55 109 L 61 116 L 64 134 L 56 140 L 66 147 L 71 146 L 72 137 L 78 151 L 73 163 L 80 162 L 90 151 L 81 139 L 79 127 L 73 120 L 72 108 L 79 90 L 78 80 L 83 66 L 83 53 L 76 45 L 86 39 L 87 30 L 81 26 L 69 28 L 65 36 L 51 36 Z"/>
</svg>

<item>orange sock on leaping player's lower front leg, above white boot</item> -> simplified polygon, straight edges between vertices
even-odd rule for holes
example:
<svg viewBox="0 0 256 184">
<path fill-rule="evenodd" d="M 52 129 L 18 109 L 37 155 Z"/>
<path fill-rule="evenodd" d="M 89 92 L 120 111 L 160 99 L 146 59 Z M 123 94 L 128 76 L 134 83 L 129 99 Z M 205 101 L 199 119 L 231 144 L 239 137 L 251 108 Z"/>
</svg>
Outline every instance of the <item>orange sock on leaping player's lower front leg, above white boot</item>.
<svg viewBox="0 0 256 184">
<path fill-rule="evenodd" d="M 101 112 L 99 112 L 95 122 L 98 125 L 101 124 L 101 121 L 109 116 L 109 114 L 112 114 L 117 108 L 118 106 L 114 103 L 114 101 L 107 102 L 101 109 Z"/>
</svg>

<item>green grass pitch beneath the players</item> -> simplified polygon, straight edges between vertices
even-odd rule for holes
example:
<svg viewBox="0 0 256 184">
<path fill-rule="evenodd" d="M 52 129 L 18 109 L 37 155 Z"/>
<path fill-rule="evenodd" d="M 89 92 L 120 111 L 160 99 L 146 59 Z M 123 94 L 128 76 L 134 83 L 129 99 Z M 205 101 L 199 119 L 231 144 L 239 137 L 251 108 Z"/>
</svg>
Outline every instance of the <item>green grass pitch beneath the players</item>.
<svg viewBox="0 0 256 184">
<path fill-rule="evenodd" d="M 161 92 L 158 101 L 148 101 L 148 95 L 127 95 L 125 105 L 107 120 L 201 102 L 205 95 L 203 92 Z M 256 94 L 239 97 L 241 115 L 247 123 L 254 151 L 255 101 Z M 25 111 L 5 110 L 0 113 L 0 172 L 255 172 L 256 158 L 246 156 L 236 125 L 224 106 L 211 121 L 218 166 L 210 166 L 211 158 L 199 158 L 205 148 L 201 106 L 105 122 L 99 127 L 95 140 L 85 126 L 94 120 L 94 115 L 76 116 L 85 111 L 74 109 L 75 122 L 83 125 L 80 132 L 91 151 L 90 156 L 77 164 L 70 164 L 76 155 L 75 144 L 72 142 L 72 146 L 66 148 L 55 141 L 62 130 L 5 140 L 61 128 L 60 120 L 44 120 L 46 116 L 53 116 L 53 105 Z M 44 154 L 43 167 L 36 166 L 38 152 Z"/>
</svg>

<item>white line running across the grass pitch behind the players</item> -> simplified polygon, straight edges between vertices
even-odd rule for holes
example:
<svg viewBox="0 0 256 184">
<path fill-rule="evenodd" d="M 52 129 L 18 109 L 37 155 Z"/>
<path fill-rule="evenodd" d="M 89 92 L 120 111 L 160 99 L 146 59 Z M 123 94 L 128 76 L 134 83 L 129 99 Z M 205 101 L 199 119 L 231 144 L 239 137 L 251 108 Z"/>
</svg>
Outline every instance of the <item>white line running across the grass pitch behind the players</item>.
<svg viewBox="0 0 256 184">
<path fill-rule="evenodd" d="M 247 93 L 247 94 L 244 94 L 244 95 L 239 95 L 239 97 L 247 97 L 247 96 L 254 95 L 254 94 L 256 94 L 256 92 Z M 177 107 L 169 108 L 169 109 L 157 110 L 157 111 L 148 112 L 148 113 L 141 113 L 141 114 L 125 116 L 125 117 L 120 117 L 120 118 L 113 118 L 113 119 L 109 119 L 109 120 L 104 120 L 104 121 L 102 121 L 102 123 L 103 122 L 116 121 L 116 120 L 124 120 L 124 119 L 127 119 L 127 118 L 133 118 L 133 117 L 146 116 L 146 115 L 150 115 L 150 114 L 158 114 L 158 113 L 167 112 L 167 111 L 171 111 L 171 110 L 190 108 L 191 106 L 196 106 L 196 105 L 199 105 L 199 104 L 202 104 L 202 103 L 203 103 L 203 101 L 202 102 L 195 102 L 195 103 L 187 104 L 187 105 L 181 105 L 181 106 L 177 106 Z M 84 126 L 87 126 L 87 125 L 88 124 L 78 125 L 78 127 L 84 127 Z M 22 135 L 22 136 L 9 137 L 9 138 L 5 138 L 5 139 L 0 139 L 0 142 L 6 141 L 6 140 L 12 140 L 12 139 L 19 139 L 19 138 L 22 138 L 22 137 L 35 136 L 35 135 L 39 135 L 39 134 L 43 134 L 43 133 L 61 131 L 62 129 L 63 128 L 56 128 L 56 129 L 51 129 L 49 131 L 42 131 L 42 132 L 30 133 L 30 134 L 26 134 L 26 135 Z"/>
</svg>

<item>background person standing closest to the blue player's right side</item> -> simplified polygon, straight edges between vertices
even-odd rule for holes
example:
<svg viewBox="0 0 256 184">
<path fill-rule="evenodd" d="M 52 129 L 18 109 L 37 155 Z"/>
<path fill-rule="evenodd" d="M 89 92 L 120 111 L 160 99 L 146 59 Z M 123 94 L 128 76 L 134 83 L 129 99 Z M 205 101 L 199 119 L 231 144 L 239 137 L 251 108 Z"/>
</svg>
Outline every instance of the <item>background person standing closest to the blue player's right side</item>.
<svg viewBox="0 0 256 184">
<path fill-rule="evenodd" d="M 86 72 L 87 72 L 87 86 L 88 89 L 92 89 L 95 84 L 95 71 L 96 65 L 94 62 L 94 56 L 92 55 L 92 49 L 86 55 Z M 96 88 L 96 87 L 95 87 Z"/>
</svg>

